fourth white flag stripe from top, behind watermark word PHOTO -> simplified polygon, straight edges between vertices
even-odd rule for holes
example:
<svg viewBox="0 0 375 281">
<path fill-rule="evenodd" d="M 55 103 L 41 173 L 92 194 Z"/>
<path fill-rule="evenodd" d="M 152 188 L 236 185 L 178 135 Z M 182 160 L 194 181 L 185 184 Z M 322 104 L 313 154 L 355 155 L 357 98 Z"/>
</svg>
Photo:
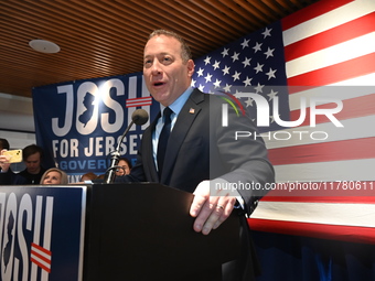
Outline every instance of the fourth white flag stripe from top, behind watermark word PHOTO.
<svg viewBox="0 0 375 281">
<path fill-rule="evenodd" d="M 286 130 L 265 132 L 260 136 L 262 136 L 262 139 L 266 142 L 267 149 L 375 137 L 375 116 L 342 120 L 341 123 L 344 126 L 344 128 L 336 128 L 333 123 L 326 122 L 319 123 L 317 127 L 303 126 Z M 322 132 L 328 133 L 328 139 L 314 140 L 323 139 L 324 134 Z M 287 139 L 289 136 L 289 140 L 280 140 Z"/>
</svg>

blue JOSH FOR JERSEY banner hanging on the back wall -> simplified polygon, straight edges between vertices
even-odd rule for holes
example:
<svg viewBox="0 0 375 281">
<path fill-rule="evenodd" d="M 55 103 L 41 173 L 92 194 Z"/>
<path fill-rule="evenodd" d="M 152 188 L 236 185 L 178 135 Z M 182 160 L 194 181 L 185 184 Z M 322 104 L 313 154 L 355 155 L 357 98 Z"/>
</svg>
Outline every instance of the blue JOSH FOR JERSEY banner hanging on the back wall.
<svg viewBox="0 0 375 281">
<path fill-rule="evenodd" d="M 33 108 L 36 143 L 47 164 L 64 170 L 71 183 L 87 172 L 105 173 L 131 115 L 142 108 L 149 121 L 133 126 L 120 147 L 135 162 L 143 130 L 160 109 L 141 73 L 36 87 Z"/>
</svg>

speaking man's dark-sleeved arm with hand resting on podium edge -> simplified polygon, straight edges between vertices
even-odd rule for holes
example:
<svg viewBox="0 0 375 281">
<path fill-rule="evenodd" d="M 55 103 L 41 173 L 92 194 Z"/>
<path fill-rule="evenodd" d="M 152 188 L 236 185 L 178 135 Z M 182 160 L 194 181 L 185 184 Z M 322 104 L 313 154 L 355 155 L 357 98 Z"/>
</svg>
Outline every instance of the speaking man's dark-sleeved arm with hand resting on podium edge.
<svg viewBox="0 0 375 281">
<path fill-rule="evenodd" d="M 228 166 L 229 172 L 213 181 L 204 181 L 196 187 L 190 214 L 196 217 L 194 230 L 210 234 L 231 215 L 238 194 L 244 201 L 244 210 L 249 216 L 257 201 L 268 191 L 266 183 L 275 181 L 274 167 L 268 161 L 267 149 L 258 137 L 257 129 L 249 117 L 237 116 L 229 110 L 228 127 L 222 127 L 217 117 L 217 128 L 212 140 L 217 153 Z M 250 131 L 253 138 L 236 138 L 236 131 Z M 255 134 L 257 133 L 257 134 Z M 214 166 L 215 163 L 212 163 Z M 213 169 L 215 170 L 215 167 Z M 260 187 L 260 188 L 259 188 Z"/>
</svg>

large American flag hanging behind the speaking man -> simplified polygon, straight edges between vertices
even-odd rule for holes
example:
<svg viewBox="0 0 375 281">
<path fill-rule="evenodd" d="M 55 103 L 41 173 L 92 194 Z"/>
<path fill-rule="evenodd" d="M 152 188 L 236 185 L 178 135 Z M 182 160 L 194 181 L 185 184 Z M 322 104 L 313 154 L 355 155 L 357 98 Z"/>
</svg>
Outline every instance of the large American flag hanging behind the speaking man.
<svg viewBox="0 0 375 281">
<path fill-rule="evenodd" d="M 196 60 L 195 72 L 192 84 L 203 91 L 262 95 L 270 102 L 270 126 L 260 129 L 271 134 L 265 136 L 306 131 L 265 138 L 277 183 L 289 190 L 260 201 L 253 229 L 375 242 L 374 0 L 319 1 Z M 340 100 L 334 117 L 343 128 L 323 116 L 315 127 L 306 118 L 297 128 L 280 128 L 271 115 L 275 97 L 280 119 L 289 121 L 304 108 L 309 117 L 302 97 L 331 98 L 320 109 Z M 256 102 L 242 100 L 256 118 Z"/>
</svg>

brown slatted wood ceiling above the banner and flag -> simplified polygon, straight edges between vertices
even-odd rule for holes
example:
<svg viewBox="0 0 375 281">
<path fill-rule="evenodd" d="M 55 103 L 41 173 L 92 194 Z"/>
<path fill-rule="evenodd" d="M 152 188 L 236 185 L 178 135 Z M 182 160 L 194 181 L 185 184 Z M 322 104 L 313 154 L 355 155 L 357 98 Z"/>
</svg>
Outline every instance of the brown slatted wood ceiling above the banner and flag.
<svg viewBox="0 0 375 281">
<path fill-rule="evenodd" d="M 142 71 L 154 29 L 181 34 L 200 57 L 317 0 L 0 0 L 0 93 Z M 56 43 L 40 53 L 30 40 Z"/>
</svg>

